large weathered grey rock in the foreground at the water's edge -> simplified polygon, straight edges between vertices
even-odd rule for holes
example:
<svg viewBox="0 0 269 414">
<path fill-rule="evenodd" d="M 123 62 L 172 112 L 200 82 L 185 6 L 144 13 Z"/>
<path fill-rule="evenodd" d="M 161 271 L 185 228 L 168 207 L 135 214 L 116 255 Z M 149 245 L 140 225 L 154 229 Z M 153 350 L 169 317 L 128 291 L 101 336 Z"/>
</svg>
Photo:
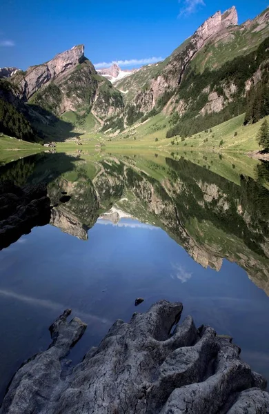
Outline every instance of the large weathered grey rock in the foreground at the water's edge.
<svg viewBox="0 0 269 414">
<path fill-rule="evenodd" d="M 209 326 L 195 327 L 166 301 L 130 324 L 117 320 L 71 373 L 63 358 L 86 329 L 70 310 L 50 327 L 52 344 L 14 375 L 0 414 L 269 413 L 266 380 L 240 349 Z"/>
</svg>

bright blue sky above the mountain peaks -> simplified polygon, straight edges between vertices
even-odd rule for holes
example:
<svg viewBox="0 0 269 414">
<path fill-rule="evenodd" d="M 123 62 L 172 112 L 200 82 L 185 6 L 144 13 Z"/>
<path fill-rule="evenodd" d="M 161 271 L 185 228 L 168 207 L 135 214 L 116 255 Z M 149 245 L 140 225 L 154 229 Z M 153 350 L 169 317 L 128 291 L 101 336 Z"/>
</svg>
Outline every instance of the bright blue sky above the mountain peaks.
<svg viewBox="0 0 269 414">
<path fill-rule="evenodd" d="M 217 10 L 236 6 L 239 23 L 268 0 L 2 0 L 0 67 L 30 65 L 85 44 L 92 63 L 165 58 Z"/>
</svg>

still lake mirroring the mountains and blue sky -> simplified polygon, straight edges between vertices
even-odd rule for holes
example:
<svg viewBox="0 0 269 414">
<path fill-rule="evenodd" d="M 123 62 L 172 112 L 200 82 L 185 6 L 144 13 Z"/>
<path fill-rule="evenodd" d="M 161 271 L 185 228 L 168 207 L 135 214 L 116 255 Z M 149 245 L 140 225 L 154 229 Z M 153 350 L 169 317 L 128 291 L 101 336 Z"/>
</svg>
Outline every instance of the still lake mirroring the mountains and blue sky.
<svg viewBox="0 0 269 414">
<path fill-rule="evenodd" d="M 52 210 L 0 252 L 1 398 L 21 363 L 49 346 L 64 309 L 88 324 L 77 363 L 115 319 L 159 299 L 231 335 L 269 380 L 268 171 L 243 155 L 131 150 L 2 165 L 1 182 L 46 183 Z"/>
</svg>

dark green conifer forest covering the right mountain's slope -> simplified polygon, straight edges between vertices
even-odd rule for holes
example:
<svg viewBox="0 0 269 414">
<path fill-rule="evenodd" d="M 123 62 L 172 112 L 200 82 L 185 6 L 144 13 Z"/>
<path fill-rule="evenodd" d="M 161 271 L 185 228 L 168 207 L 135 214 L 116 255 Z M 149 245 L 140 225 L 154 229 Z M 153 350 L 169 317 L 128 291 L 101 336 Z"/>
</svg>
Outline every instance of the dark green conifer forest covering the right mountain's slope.
<svg viewBox="0 0 269 414">
<path fill-rule="evenodd" d="M 245 112 L 246 81 L 255 74 L 267 57 L 269 57 L 269 37 L 259 45 L 257 50 L 232 61 L 227 61 L 216 70 L 206 68 L 203 73 L 197 73 L 190 66 L 186 70 L 186 75 L 178 91 L 178 100 L 183 99 L 188 104 L 188 110 L 179 122 L 168 130 L 166 137 L 170 138 L 175 135 L 188 137 Z M 210 91 L 214 91 L 226 83 L 234 85 L 233 101 L 220 112 L 201 115 L 200 111 L 206 105 L 209 93 L 205 93 L 203 90 L 209 88 Z M 266 96 L 268 96 L 267 89 Z M 267 106 L 268 104 L 266 104 L 266 108 Z"/>
</svg>

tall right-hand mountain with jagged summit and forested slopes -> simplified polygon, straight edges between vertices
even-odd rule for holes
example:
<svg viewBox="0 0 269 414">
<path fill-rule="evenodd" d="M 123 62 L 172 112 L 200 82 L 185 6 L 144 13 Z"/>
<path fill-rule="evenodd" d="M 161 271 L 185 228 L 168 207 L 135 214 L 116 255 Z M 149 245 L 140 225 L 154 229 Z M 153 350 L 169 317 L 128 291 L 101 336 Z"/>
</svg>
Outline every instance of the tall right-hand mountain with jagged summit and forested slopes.
<svg viewBox="0 0 269 414">
<path fill-rule="evenodd" d="M 170 57 L 114 83 L 126 125 L 163 112 L 177 124 L 168 137 L 186 136 L 246 112 L 250 88 L 268 84 L 268 19 L 266 9 L 239 26 L 235 7 L 217 12 Z"/>
</svg>

